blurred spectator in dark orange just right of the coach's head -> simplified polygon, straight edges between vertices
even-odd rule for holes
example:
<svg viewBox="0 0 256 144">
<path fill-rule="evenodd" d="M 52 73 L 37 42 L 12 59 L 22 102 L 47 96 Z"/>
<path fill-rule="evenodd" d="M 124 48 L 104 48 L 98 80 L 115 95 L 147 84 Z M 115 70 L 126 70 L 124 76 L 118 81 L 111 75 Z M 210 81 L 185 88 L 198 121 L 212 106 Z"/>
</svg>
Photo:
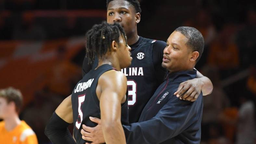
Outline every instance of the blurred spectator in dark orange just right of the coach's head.
<svg viewBox="0 0 256 144">
<path fill-rule="evenodd" d="M 221 70 L 221 77 L 227 77 L 239 67 L 239 51 L 234 41 L 237 27 L 224 24 L 219 36 L 211 43 L 208 53 L 208 65 Z"/>
</svg>

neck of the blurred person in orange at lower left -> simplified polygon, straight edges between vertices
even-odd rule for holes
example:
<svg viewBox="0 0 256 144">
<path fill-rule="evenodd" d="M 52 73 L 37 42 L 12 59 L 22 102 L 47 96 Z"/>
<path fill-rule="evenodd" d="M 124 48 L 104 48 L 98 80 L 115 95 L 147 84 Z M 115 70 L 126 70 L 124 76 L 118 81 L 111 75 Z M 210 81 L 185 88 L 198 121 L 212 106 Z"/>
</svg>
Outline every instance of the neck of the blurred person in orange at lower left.
<svg viewBox="0 0 256 144">
<path fill-rule="evenodd" d="M 5 129 L 7 131 L 13 130 L 21 122 L 18 114 L 10 114 L 8 117 L 4 119 L 4 121 L 5 121 Z"/>
</svg>

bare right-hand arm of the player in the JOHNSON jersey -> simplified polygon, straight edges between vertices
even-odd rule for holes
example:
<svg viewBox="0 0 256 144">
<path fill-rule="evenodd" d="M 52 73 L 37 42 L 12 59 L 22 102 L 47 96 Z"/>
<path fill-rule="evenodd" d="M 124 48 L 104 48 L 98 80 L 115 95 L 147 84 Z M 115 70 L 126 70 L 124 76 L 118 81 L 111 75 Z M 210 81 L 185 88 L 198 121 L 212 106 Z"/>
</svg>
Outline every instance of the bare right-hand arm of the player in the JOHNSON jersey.
<svg viewBox="0 0 256 144">
<path fill-rule="evenodd" d="M 100 89 L 100 92 L 97 89 Z M 105 72 L 99 78 L 97 89 L 97 96 L 100 95 L 101 125 L 106 143 L 126 143 L 121 124 L 121 103 L 126 101 L 126 77 L 120 71 Z"/>
</svg>

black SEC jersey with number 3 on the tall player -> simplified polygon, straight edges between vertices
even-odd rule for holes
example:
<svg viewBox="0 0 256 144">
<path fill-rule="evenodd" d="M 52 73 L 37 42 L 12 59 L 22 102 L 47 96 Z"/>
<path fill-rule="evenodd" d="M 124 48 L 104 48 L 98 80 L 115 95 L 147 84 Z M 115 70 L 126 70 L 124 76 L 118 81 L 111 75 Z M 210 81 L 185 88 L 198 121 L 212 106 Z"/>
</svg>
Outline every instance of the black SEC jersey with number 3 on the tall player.
<svg viewBox="0 0 256 144">
<path fill-rule="evenodd" d="M 138 122 L 143 108 L 159 86 L 152 60 L 154 42 L 156 40 L 140 37 L 138 44 L 131 46 L 132 64 L 122 69 L 127 77 L 129 123 Z M 97 65 L 96 58 L 93 68 Z"/>
</svg>

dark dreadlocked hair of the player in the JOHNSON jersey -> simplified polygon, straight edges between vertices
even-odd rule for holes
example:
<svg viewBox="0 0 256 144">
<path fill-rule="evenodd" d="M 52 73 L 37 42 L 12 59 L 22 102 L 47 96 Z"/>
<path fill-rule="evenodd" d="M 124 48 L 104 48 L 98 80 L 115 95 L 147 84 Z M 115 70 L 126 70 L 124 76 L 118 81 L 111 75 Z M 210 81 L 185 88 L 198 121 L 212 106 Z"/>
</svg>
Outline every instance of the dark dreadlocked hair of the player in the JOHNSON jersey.
<svg viewBox="0 0 256 144">
<path fill-rule="evenodd" d="M 119 46 L 120 35 L 123 36 L 125 45 L 127 45 L 124 30 L 118 23 L 108 24 L 106 21 L 103 21 L 101 24 L 96 24 L 92 29 L 88 30 L 86 32 L 85 50 L 89 63 L 94 61 L 95 56 L 102 58 L 111 49 L 113 41 L 117 42 Z"/>
</svg>

